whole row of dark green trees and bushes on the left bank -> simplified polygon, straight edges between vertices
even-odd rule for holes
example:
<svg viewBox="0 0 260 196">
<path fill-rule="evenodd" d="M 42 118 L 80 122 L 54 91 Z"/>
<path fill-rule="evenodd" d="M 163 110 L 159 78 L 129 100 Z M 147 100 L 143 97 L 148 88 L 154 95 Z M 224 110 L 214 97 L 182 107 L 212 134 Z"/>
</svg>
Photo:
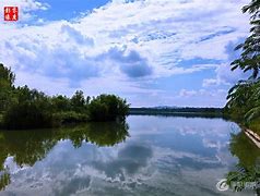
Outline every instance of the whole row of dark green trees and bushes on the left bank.
<svg viewBox="0 0 260 196">
<path fill-rule="evenodd" d="M 7 130 L 57 127 L 90 121 L 125 121 L 129 106 L 115 95 L 84 97 L 82 90 L 69 98 L 47 96 L 27 86 L 15 87 L 11 69 L 0 64 L 0 127 Z"/>
</svg>

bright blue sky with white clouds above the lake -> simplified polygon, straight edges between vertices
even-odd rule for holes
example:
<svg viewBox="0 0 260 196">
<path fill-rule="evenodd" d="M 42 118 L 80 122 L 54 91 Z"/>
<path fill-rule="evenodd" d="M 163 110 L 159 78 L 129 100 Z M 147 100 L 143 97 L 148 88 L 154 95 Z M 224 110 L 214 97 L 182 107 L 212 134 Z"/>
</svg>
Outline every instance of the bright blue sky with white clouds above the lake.
<svg viewBox="0 0 260 196">
<path fill-rule="evenodd" d="M 48 95 L 116 94 L 132 107 L 224 107 L 249 0 L 0 1 L 0 62 Z M 3 21 L 3 7 L 20 9 Z"/>
</svg>

